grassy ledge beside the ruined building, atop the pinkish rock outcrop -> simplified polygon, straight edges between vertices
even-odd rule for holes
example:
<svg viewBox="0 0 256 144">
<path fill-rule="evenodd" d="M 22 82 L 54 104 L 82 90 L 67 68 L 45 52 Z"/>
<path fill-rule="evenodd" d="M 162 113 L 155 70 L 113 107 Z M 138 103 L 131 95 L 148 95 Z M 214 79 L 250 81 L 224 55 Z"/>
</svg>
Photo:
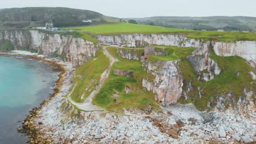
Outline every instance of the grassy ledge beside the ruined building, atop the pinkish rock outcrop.
<svg viewBox="0 0 256 144">
<path fill-rule="evenodd" d="M 149 61 L 172 61 L 174 59 L 184 59 L 187 58 L 191 53 L 195 50 L 195 48 L 187 47 L 181 48 L 177 46 L 157 46 L 155 45 L 155 51 L 166 52 L 167 56 L 149 56 Z"/>
</svg>

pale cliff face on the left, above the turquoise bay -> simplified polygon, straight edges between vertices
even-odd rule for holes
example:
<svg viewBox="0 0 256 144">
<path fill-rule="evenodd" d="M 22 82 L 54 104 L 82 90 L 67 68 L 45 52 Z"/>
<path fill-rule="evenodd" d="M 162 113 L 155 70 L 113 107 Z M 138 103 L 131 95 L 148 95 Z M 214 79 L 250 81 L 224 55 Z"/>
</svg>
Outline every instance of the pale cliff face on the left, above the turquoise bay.
<svg viewBox="0 0 256 144">
<path fill-rule="evenodd" d="M 34 50 L 49 57 L 81 65 L 96 55 L 97 44 L 72 35 L 52 34 L 42 31 L 0 31 L 0 41 L 13 45 L 15 50 Z"/>
</svg>

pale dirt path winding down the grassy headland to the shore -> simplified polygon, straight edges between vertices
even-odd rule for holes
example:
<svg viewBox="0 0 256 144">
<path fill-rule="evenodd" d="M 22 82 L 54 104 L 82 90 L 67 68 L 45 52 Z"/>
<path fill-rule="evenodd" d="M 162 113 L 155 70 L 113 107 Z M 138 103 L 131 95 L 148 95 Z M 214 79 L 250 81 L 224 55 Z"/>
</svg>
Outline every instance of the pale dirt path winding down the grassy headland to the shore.
<svg viewBox="0 0 256 144">
<path fill-rule="evenodd" d="M 109 65 L 108 68 L 101 74 L 101 80 L 100 80 L 100 86 L 97 86 L 96 89 L 89 95 L 88 98 L 85 99 L 84 103 L 76 103 L 73 101 L 70 97 L 71 93 L 73 93 L 75 86 L 77 86 L 77 83 L 75 83 L 71 93 L 68 94 L 68 100 L 71 101 L 71 103 L 75 106 L 77 106 L 80 110 L 84 111 L 100 111 L 103 110 L 101 107 L 95 106 L 92 104 L 92 99 L 95 97 L 95 95 L 100 91 L 101 86 L 103 85 L 103 82 L 108 78 L 109 72 L 112 68 L 112 65 L 114 62 L 118 62 L 118 59 L 112 57 L 108 51 L 106 50 L 106 47 L 103 47 L 104 54 L 109 58 Z M 74 74 L 75 76 L 75 74 Z"/>
</svg>

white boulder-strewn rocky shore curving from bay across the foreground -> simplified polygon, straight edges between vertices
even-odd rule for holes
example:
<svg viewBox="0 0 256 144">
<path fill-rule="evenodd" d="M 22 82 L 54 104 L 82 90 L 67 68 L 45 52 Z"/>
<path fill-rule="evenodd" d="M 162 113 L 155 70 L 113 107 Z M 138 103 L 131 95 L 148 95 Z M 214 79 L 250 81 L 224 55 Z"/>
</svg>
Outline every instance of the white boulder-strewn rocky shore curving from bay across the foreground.
<svg viewBox="0 0 256 144">
<path fill-rule="evenodd" d="M 53 96 L 31 110 L 23 122 L 24 129 L 20 129 L 31 138 L 30 143 L 256 142 L 255 105 L 249 99 L 240 100 L 235 110 L 225 112 L 218 109 L 210 113 L 200 112 L 191 104 L 153 111 L 78 112 L 65 97 L 73 85 L 72 63 L 40 56 L 28 57 L 59 65 L 57 67 L 61 69 Z M 63 104 L 66 104 L 65 108 Z"/>
</svg>

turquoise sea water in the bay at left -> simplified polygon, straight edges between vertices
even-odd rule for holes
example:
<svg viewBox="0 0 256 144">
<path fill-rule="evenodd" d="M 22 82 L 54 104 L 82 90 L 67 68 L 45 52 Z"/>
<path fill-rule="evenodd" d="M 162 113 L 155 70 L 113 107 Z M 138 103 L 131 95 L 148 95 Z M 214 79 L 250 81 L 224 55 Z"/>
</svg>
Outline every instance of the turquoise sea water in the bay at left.
<svg viewBox="0 0 256 144">
<path fill-rule="evenodd" d="M 53 93 L 57 71 L 44 62 L 0 56 L 0 143 L 25 143 L 19 121 Z"/>
</svg>

